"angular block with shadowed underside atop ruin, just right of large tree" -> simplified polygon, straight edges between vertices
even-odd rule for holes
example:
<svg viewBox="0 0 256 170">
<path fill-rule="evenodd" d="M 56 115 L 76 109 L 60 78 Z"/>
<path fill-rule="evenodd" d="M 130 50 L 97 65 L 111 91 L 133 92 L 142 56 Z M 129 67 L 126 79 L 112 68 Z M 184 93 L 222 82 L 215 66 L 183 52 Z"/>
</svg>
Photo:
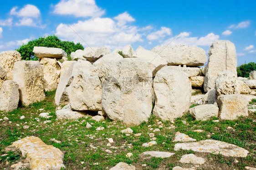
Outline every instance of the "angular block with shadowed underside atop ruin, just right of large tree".
<svg viewBox="0 0 256 170">
<path fill-rule="evenodd" d="M 109 53 L 111 53 L 111 51 L 107 47 L 86 47 L 84 49 L 83 57 L 89 61 L 95 62 Z"/>
</svg>

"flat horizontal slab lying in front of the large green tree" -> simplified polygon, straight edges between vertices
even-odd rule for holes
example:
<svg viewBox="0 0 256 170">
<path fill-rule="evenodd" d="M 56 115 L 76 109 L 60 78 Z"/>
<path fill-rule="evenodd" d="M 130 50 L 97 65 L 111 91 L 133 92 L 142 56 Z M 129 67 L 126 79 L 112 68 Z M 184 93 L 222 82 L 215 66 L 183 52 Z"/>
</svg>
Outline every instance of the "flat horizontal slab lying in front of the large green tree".
<svg viewBox="0 0 256 170">
<path fill-rule="evenodd" d="M 37 47 L 34 46 L 33 53 L 38 58 L 56 58 L 61 59 L 62 57 L 67 57 L 67 53 L 61 48 L 52 48 L 52 47 Z"/>
</svg>

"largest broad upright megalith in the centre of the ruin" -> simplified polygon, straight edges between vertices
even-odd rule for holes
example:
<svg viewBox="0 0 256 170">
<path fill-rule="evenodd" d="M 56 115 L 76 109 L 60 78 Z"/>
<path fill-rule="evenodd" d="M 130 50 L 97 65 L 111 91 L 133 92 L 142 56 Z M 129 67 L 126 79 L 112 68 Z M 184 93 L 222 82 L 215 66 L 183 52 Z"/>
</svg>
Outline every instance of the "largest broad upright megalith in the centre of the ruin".
<svg viewBox="0 0 256 170">
<path fill-rule="evenodd" d="M 104 62 L 105 63 L 105 62 Z M 152 73 L 139 58 L 102 63 L 102 109 L 111 120 L 126 125 L 147 121 L 152 110 Z"/>
</svg>

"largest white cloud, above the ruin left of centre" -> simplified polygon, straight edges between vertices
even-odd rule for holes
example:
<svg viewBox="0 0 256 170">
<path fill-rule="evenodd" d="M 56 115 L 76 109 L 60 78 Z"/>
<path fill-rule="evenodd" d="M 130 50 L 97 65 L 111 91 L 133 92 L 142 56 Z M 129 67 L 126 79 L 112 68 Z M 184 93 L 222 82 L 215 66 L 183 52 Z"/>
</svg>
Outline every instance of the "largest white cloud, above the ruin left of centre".
<svg viewBox="0 0 256 170">
<path fill-rule="evenodd" d="M 136 26 L 118 25 L 118 21 L 111 18 L 99 17 L 78 21 L 70 26 L 61 23 L 56 28 L 56 35 L 87 46 L 82 37 L 90 46 L 107 46 L 111 49 L 142 41 Z"/>
</svg>

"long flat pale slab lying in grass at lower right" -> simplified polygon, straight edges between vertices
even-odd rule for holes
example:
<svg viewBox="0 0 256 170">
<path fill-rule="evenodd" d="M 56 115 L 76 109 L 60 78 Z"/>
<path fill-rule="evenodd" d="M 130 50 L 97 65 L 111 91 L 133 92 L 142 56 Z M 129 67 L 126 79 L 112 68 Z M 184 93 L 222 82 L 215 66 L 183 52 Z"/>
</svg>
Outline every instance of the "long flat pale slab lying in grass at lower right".
<svg viewBox="0 0 256 170">
<path fill-rule="evenodd" d="M 174 145 L 174 150 L 193 150 L 195 152 L 207 152 L 224 156 L 246 157 L 248 150 L 233 144 L 228 144 L 218 140 L 201 140 L 199 142 L 178 143 Z"/>
</svg>

